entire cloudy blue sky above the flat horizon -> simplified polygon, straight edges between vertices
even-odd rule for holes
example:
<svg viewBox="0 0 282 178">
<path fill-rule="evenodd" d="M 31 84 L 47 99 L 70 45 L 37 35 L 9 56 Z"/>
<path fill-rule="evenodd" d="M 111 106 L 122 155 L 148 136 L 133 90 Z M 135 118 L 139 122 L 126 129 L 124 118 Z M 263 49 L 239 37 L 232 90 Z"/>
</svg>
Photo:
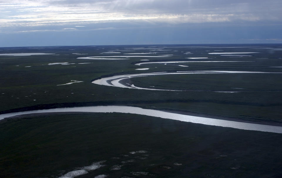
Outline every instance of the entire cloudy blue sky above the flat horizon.
<svg viewBox="0 0 282 178">
<path fill-rule="evenodd" d="M 281 0 L 0 0 L 0 47 L 282 43 Z"/>
</svg>

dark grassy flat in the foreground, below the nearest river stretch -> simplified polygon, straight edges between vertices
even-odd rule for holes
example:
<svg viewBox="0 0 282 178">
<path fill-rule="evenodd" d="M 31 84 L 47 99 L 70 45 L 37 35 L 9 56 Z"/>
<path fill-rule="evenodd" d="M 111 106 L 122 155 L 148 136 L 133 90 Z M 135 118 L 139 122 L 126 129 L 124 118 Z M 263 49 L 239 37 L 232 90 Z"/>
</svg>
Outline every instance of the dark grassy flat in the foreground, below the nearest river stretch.
<svg viewBox="0 0 282 178">
<path fill-rule="evenodd" d="M 59 177 L 102 160 L 104 167 L 80 177 L 282 174 L 282 135 L 268 132 L 120 113 L 27 115 L 2 121 L 0 132 L 0 172 L 7 178 Z"/>
</svg>

